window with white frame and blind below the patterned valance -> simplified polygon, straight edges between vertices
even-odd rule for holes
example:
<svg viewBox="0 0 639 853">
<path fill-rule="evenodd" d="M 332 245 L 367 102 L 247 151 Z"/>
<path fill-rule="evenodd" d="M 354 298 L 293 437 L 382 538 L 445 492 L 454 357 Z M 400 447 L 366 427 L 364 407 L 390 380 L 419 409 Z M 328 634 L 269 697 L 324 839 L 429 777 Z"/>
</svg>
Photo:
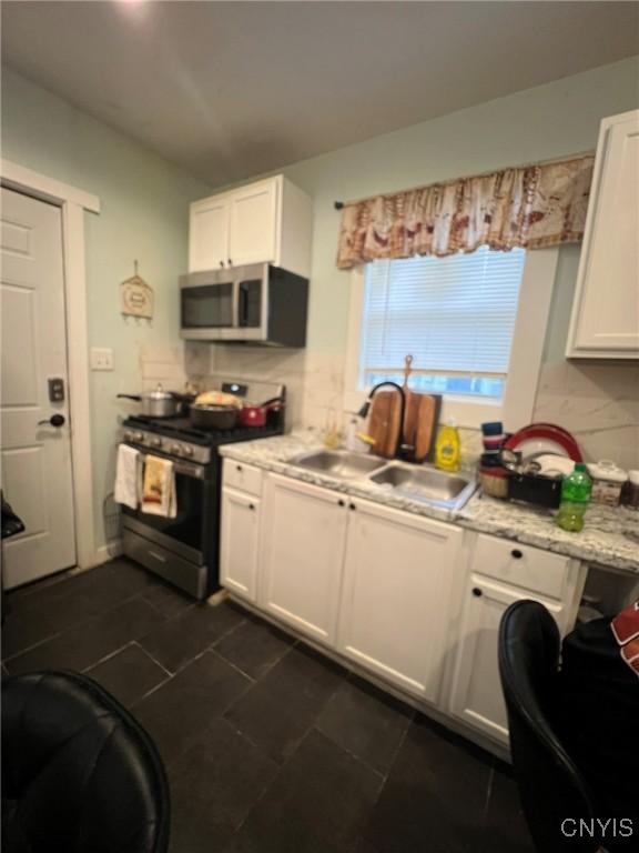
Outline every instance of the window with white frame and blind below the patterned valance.
<svg viewBox="0 0 639 853">
<path fill-rule="evenodd" d="M 558 250 L 375 261 L 353 273 L 345 409 L 377 382 L 443 395 L 463 426 L 530 422 Z"/>
</svg>

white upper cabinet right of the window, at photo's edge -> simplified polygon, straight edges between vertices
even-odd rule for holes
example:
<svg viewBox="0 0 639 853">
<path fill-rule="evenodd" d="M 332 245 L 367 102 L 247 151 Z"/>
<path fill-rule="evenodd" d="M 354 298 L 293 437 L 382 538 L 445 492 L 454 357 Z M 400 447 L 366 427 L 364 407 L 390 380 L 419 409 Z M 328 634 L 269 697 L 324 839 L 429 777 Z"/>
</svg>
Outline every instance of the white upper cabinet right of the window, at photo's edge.
<svg viewBox="0 0 639 853">
<path fill-rule="evenodd" d="M 568 358 L 639 358 L 639 110 L 599 131 Z"/>
</svg>

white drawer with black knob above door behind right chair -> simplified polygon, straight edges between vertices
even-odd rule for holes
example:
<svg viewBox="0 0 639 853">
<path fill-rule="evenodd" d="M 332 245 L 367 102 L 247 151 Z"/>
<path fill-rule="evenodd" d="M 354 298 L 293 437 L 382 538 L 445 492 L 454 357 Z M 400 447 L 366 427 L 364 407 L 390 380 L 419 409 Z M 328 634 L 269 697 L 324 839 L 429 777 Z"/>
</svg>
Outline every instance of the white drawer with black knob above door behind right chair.
<svg viewBox="0 0 639 853">
<path fill-rule="evenodd" d="M 567 556 L 479 534 L 473 571 L 552 599 L 561 599 L 569 563 Z"/>
</svg>

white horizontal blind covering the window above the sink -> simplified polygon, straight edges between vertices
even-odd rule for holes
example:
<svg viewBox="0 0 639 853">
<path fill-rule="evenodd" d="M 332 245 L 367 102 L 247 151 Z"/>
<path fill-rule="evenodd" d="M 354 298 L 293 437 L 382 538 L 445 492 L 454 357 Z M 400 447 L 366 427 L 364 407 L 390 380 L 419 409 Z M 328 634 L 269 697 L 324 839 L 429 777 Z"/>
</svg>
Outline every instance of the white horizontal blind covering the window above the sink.
<svg viewBox="0 0 639 853">
<path fill-rule="evenodd" d="M 490 251 L 366 264 L 359 385 L 402 378 L 412 388 L 500 399 L 526 252 Z"/>
</svg>

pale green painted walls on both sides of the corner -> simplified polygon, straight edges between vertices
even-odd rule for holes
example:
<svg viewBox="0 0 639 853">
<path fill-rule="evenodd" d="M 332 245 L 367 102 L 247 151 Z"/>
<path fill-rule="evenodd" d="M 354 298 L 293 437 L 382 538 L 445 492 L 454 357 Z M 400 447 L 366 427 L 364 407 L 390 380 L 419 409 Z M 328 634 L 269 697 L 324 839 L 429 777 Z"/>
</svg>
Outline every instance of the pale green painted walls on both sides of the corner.
<svg viewBox="0 0 639 853">
<path fill-rule="evenodd" d="M 315 200 L 308 349 L 337 354 L 346 344 L 349 277 L 335 267 L 336 199 L 592 149 L 602 117 L 639 104 L 638 80 L 639 58 L 623 60 L 284 169 Z M 102 499 L 112 486 L 115 394 L 140 388 L 141 345 L 179 343 L 175 282 L 186 267 L 187 204 L 213 190 L 11 71 L 3 72 L 2 99 L 2 155 L 102 202 L 100 215 L 85 217 L 90 343 L 112 347 L 115 357 L 113 373 L 91 374 L 101 544 Z M 577 247 L 561 250 L 548 361 L 562 359 L 578 258 Z M 132 273 L 134 259 L 155 290 L 151 328 L 126 323 L 119 313 L 118 284 Z"/>
</svg>

